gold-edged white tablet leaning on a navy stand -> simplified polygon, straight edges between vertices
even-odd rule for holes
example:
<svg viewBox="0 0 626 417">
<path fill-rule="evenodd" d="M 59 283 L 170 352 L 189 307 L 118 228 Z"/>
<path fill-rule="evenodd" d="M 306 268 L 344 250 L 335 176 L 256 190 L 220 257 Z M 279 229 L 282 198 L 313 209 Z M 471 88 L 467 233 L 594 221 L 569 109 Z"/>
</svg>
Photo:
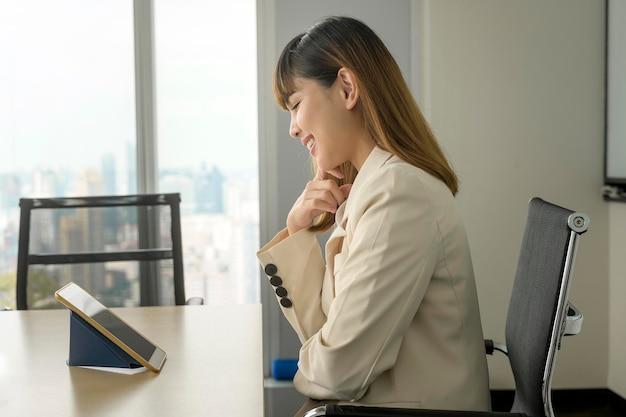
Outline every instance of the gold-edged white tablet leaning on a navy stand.
<svg viewBox="0 0 626 417">
<path fill-rule="evenodd" d="M 55 298 L 152 372 L 165 363 L 163 349 L 109 310 L 93 295 L 70 282 L 54 293 Z"/>
</svg>

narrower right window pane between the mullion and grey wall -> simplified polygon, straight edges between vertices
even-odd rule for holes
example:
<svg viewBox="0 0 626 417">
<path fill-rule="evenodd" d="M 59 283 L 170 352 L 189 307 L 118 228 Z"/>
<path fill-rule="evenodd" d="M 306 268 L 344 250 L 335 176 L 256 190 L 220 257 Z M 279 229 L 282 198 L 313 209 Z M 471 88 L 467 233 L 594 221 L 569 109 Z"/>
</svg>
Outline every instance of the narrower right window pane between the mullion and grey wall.
<svg viewBox="0 0 626 417">
<path fill-rule="evenodd" d="M 187 196 L 187 292 L 258 302 L 256 2 L 158 0 L 154 13 L 159 189 Z"/>
</svg>

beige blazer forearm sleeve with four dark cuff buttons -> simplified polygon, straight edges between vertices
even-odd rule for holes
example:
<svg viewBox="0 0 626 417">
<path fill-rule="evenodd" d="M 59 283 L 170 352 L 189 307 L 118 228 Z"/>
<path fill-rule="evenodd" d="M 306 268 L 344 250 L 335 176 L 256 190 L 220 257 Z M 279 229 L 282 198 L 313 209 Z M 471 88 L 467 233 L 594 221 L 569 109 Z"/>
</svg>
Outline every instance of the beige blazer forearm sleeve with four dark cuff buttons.
<svg viewBox="0 0 626 417">
<path fill-rule="evenodd" d="M 306 229 L 289 236 L 283 229 L 257 257 L 285 318 L 304 343 L 326 321 L 321 307 L 326 267 L 317 237 Z"/>
</svg>

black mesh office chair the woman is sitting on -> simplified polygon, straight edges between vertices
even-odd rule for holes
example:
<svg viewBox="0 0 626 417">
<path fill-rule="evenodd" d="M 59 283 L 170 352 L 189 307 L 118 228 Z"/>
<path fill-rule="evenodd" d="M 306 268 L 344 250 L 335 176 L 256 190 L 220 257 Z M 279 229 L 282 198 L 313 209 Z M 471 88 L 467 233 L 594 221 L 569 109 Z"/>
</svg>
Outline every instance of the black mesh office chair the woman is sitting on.
<svg viewBox="0 0 626 417">
<path fill-rule="evenodd" d="M 415 410 L 333 405 L 310 410 L 305 417 L 554 417 L 551 381 L 563 335 L 580 331 L 583 316 L 568 303 L 579 235 L 589 217 L 540 198 L 529 202 L 517 273 L 506 319 L 506 344 L 485 341 L 486 353 L 507 354 L 515 379 L 510 413 Z"/>
</svg>

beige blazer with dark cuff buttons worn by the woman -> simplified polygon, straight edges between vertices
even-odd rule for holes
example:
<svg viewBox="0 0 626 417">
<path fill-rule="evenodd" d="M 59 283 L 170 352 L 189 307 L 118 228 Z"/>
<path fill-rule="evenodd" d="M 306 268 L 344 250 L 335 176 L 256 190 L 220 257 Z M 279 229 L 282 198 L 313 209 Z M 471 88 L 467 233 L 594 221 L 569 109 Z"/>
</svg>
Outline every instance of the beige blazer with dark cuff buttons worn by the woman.
<svg viewBox="0 0 626 417">
<path fill-rule="evenodd" d="M 326 244 L 301 230 L 257 253 L 302 342 L 296 389 L 324 400 L 488 410 L 474 272 L 454 197 L 375 148 Z"/>
</svg>

